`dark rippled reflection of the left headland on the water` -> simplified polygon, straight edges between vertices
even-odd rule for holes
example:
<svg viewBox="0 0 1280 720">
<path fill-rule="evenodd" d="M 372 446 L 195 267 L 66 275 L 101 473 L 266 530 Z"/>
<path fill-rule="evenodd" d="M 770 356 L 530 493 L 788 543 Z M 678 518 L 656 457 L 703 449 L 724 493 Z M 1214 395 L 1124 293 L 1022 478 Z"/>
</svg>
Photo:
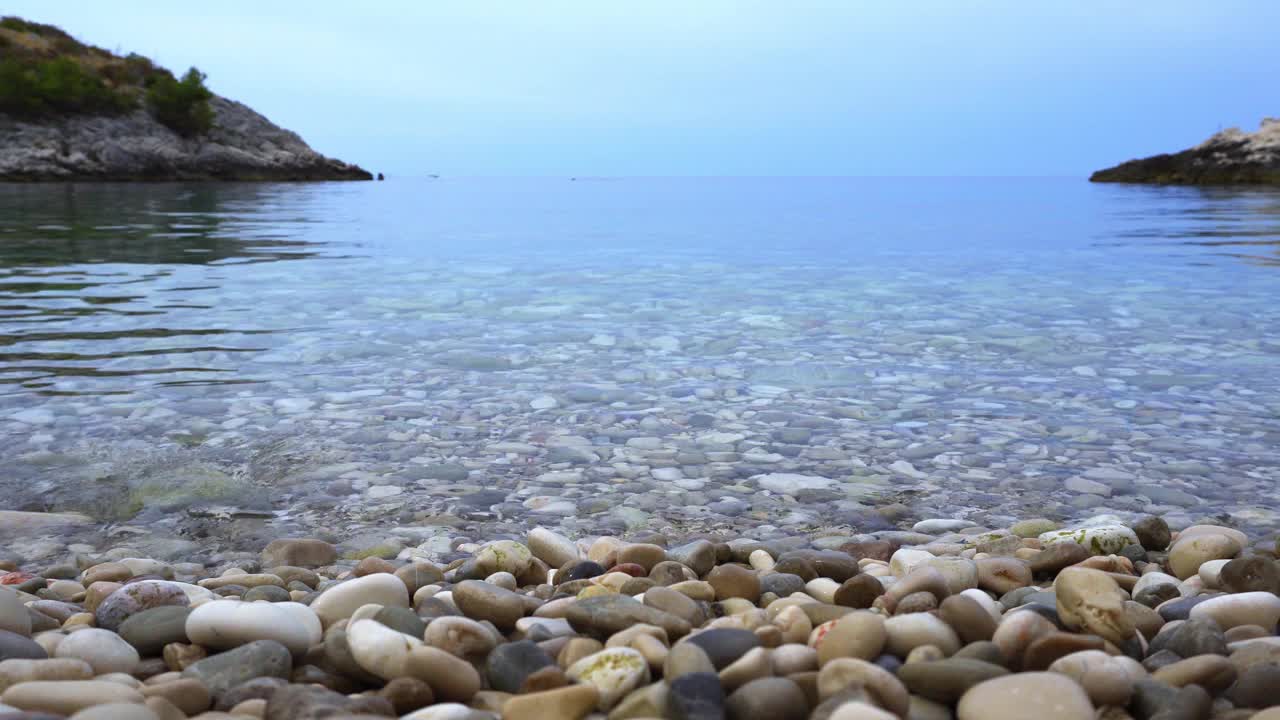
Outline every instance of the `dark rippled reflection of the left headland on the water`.
<svg viewBox="0 0 1280 720">
<path fill-rule="evenodd" d="M 265 184 L 0 184 L 0 383 L 60 395 L 55 378 L 246 382 L 219 379 L 227 366 L 198 361 L 252 352 L 244 341 L 266 332 L 212 327 L 223 323 L 204 311 L 219 310 L 228 270 L 210 266 L 316 256 L 298 223 L 282 232 L 274 214 L 292 195 Z M 187 282 L 187 266 L 206 266 L 198 284 Z M 161 345 L 136 342 L 152 340 Z M 113 369 L 164 355 L 196 363 Z M 131 388 L 68 391 L 79 392 Z"/>
</svg>

